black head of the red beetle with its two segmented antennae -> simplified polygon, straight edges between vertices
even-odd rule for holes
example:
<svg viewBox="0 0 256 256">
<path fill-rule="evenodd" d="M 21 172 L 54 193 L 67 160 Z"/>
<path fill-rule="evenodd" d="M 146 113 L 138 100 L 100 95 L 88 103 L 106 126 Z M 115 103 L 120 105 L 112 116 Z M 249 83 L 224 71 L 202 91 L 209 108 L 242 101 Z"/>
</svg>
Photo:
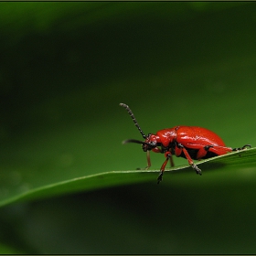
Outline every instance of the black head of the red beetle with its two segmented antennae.
<svg viewBox="0 0 256 256">
<path fill-rule="evenodd" d="M 136 121 L 136 119 L 135 119 L 135 117 L 133 115 L 133 112 L 131 111 L 129 106 L 126 105 L 126 104 L 123 104 L 123 103 L 120 103 L 119 105 L 122 106 L 124 109 L 126 109 L 126 111 L 130 114 L 130 116 L 133 119 L 133 123 L 135 124 L 135 126 L 138 128 L 139 132 L 143 135 L 143 137 L 145 139 L 144 142 L 143 141 L 139 141 L 139 140 L 130 139 L 130 140 L 123 141 L 123 144 L 128 144 L 128 143 L 142 144 L 144 152 L 149 151 L 149 150 L 155 148 L 156 142 L 150 140 L 151 133 L 149 133 L 147 135 L 144 134 L 143 130 L 141 129 L 140 125 L 137 123 L 137 121 Z"/>
</svg>

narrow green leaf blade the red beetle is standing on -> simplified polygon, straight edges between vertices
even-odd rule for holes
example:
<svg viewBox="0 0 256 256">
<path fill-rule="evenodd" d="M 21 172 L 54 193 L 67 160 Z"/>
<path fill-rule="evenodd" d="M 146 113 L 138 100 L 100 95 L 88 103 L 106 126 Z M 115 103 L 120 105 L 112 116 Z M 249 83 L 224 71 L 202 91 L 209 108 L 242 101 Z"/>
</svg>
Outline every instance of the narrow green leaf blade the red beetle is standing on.
<svg viewBox="0 0 256 256">
<path fill-rule="evenodd" d="M 203 176 L 195 176 L 190 166 L 182 165 L 167 169 L 164 181 L 168 183 L 184 183 L 187 186 L 200 186 L 198 181 L 206 176 L 207 183 L 212 183 L 215 179 L 223 179 L 229 176 L 229 181 L 240 179 L 242 176 L 256 176 L 256 148 L 242 150 L 228 155 L 220 155 L 197 163 L 202 169 Z M 159 170 L 131 170 L 131 171 L 110 171 L 101 172 L 90 176 L 80 176 L 68 179 L 47 186 L 28 189 L 23 193 L 16 193 L 10 197 L 4 197 L 0 201 L 0 206 L 10 203 L 36 200 L 44 197 L 55 197 L 62 194 L 69 194 L 79 191 L 90 191 L 105 187 L 123 186 L 135 183 L 152 182 L 156 184 L 156 177 Z M 192 176 L 193 174 L 193 176 Z M 176 175 L 174 177 L 169 175 Z M 210 179 L 208 179 L 210 177 Z M 192 179 L 191 179 L 192 178 Z M 161 184 L 160 184 L 161 186 Z"/>
</svg>

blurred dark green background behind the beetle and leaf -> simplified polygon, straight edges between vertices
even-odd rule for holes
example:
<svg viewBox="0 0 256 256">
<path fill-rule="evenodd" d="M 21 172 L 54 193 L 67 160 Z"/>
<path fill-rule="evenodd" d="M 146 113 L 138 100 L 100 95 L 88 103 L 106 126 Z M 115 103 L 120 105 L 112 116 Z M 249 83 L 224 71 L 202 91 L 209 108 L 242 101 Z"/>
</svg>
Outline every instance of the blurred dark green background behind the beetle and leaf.
<svg viewBox="0 0 256 256">
<path fill-rule="evenodd" d="M 255 146 L 255 3 L 0 7 L 0 200 L 144 167 L 121 144 L 142 138 L 120 102 L 144 133 L 198 125 Z M 153 169 L 163 161 L 152 154 Z M 5 206 L 0 252 L 255 253 L 254 179 L 156 176 Z"/>
</svg>

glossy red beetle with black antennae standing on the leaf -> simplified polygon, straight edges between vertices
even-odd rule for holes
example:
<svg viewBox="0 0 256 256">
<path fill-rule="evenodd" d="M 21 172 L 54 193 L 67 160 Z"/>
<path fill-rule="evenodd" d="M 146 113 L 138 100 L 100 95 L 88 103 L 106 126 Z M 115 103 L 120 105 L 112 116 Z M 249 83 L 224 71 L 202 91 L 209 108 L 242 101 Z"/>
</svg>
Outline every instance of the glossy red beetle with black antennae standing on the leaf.
<svg viewBox="0 0 256 256">
<path fill-rule="evenodd" d="M 202 171 L 194 164 L 192 159 L 207 159 L 217 155 L 225 155 L 231 151 L 245 149 L 251 144 L 245 144 L 242 147 L 227 147 L 222 139 L 216 133 L 206 128 L 197 126 L 175 126 L 158 131 L 157 133 L 144 134 L 141 127 L 137 123 L 133 112 L 126 104 L 120 103 L 120 106 L 126 109 L 133 119 L 133 123 L 144 137 L 144 142 L 139 140 L 126 140 L 126 143 L 142 144 L 144 152 L 147 153 L 147 166 L 151 166 L 149 152 L 165 154 L 165 162 L 161 166 L 160 175 L 157 178 L 157 184 L 163 179 L 165 165 L 170 159 L 171 166 L 174 166 L 172 155 L 187 158 L 188 164 L 196 171 L 197 175 L 202 175 Z"/>
</svg>

